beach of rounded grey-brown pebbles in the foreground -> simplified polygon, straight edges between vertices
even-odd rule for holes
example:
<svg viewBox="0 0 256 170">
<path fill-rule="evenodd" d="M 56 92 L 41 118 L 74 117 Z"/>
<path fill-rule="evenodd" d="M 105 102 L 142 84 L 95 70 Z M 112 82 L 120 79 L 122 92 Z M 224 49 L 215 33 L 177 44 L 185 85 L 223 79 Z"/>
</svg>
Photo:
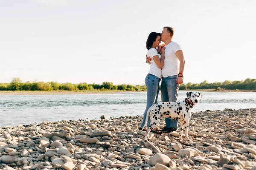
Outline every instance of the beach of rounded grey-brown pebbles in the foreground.
<svg viewBox="0 0 256 170">
<path fill-rule="evenodd" d="M 192 141 L 177 130 L 145 143 L 142 116 L 101 118 L 0 127 L 0 169 L 256 170 L 256 108 L 192 113 Z"/>
</svg>

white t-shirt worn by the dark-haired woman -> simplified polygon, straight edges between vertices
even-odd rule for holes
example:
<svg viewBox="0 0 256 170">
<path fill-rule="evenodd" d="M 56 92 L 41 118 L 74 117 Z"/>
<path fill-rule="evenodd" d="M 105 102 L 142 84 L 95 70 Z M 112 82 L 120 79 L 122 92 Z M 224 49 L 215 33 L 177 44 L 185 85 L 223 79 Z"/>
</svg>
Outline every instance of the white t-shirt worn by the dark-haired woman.
<svg viewBox="0 0 256 170">
<path fill-rule="evenodd" d="M 148 71 L 148 74 L 153 74 L 155 76 L 157 76 L 158 78 L 161 79 L 162 77 L 162 70 L 160 68 L 157 67 L 157 64 L 154 62 L 154 59 L 153 57 L 158 55 L 159 59 L 161 58 L 161 55 L 158 54 L 157 50 L 155 48 L 150 48 L 148 50 L 148 57 L 150 57 L 152 60 L 150 61 L 151 64 L 150 64 L 150 68 L 149 68 L 149 71 Z"/>
</svg>

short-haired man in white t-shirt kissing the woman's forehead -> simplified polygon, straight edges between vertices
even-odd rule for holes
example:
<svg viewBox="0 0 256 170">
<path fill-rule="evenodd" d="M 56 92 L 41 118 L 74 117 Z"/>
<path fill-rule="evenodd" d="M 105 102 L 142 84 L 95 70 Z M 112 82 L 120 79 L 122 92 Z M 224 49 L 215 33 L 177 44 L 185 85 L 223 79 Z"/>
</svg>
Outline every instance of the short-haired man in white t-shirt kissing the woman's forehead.
<svg viewBox="0 0 256 170">
<path fill-rule="evenodd" d="M 177 102 L 178 90 L 180 84 L 183 83 L 183 71 L 185 59 L 182 48 L 177 42 L 172 41 L 174 29 L 172 27 L 163 27 L 161 41 L 165 43 L 165 58 L 162 68 L 161 82 L 161 99 L 162 102 Z M 147 63 L 150 62 L 150 57 L 147 57 Z M 165 133 L 176 131 L 178 121 L 165 118 L 166 126 L 160 130 Z"/>
</svg>

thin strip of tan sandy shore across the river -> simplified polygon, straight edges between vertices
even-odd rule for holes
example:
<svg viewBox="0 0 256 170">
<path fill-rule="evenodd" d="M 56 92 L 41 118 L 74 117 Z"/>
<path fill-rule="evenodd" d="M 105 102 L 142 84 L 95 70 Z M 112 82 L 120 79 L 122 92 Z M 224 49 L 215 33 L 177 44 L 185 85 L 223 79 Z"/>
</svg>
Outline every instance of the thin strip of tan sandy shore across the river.
<svg viewBox="0 0 256 170">
<path fill-rule="evenodd" d="M 216 89 L 198 89 L 198 90 L 180 90 L 180 91 L 205 91 L 205 92 L 219 92 L 219 93 L 230 93 L 230 92 L 256 92 L 246 90 L 221 90 Z M 119 94 L 119 93 L 139 93 L 138 91 L 0 91 L 0 96 L 4 95 L 65 95 L 65 94 Z"/>
</svg>

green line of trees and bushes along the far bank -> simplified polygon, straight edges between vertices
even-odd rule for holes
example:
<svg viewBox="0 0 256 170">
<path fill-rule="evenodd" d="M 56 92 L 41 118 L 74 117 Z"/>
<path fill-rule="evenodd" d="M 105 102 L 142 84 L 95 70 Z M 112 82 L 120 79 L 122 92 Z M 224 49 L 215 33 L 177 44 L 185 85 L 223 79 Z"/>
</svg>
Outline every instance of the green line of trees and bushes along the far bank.
<svg viewBox="0 0 256 170">
<path fill-rule="evenodd" d="M 229 81 L 207 83 L 205 80 L 200 84 L 181 84 L 180 90 L 199 89 L 226 89 L 226 90 L 256 90 L 256 79 L 245 79 L 244 81 Z M 70 82 L 59 84 L 58 82 L 22 82 L 20 78 L 13 78 L 11 83 L 0 83 L 0 91 L 87 91 L 87 90 L 120 90 L 120 91 L 146 91 L 145 85 L 113 85 L 113 82 L 100 84 L 87 84 L 86 82 L 72 84 Z"/>
</svg>

